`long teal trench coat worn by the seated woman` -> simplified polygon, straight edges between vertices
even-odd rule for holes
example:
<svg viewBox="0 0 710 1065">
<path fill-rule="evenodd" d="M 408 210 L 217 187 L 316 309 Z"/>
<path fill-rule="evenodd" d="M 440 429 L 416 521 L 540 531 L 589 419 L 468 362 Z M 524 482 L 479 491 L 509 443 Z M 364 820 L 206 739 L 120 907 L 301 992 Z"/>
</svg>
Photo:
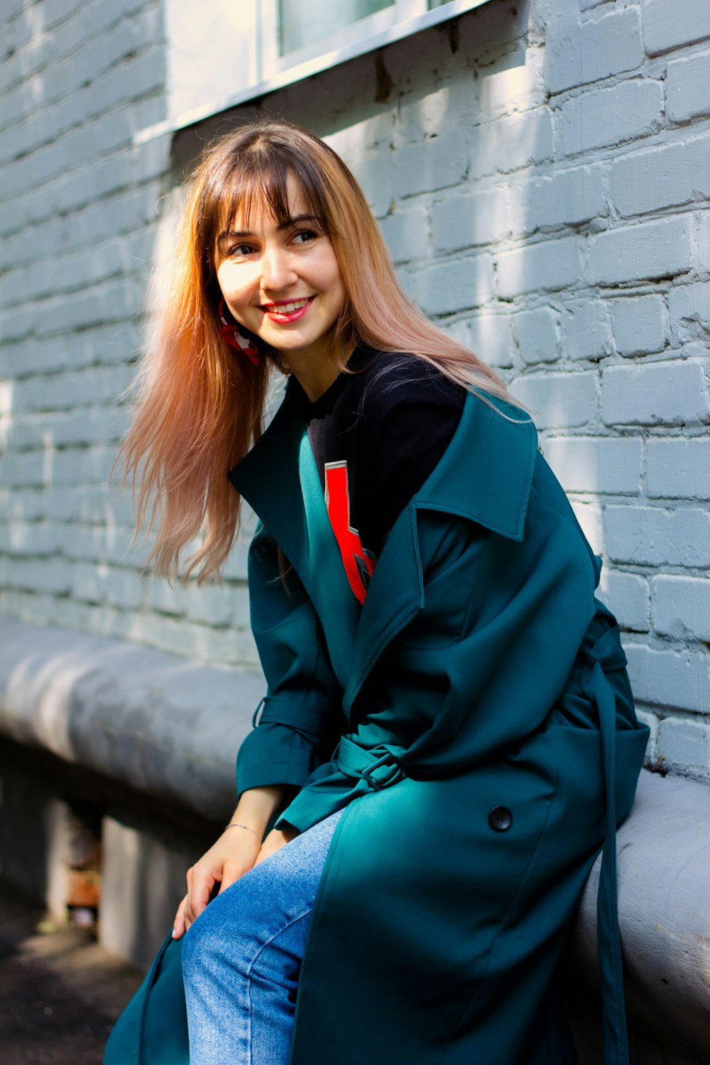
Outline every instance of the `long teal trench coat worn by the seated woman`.
<svg viewBox="0 0 710 1065">
<path fill-rule="evenodd" d="M 262 522 L 249 587 L 268 684 L 237 786 L 298 786 L 277 823 L 301 831 L 346 807 L 291 1065 L 574 1062 L 554 978 L 602 845 L 606 1061 L 622 1065 L 613 833 L 648 731 L 595 599 L 600 560 L 532 422 L 469 395 L 361 608 L 294 393 L 230 474 Z M 293 566 L 285 583 L 277 544 Z M 150 1009 L 175 946 L 117 1025 L 106 1065 L 186 1062 L 161 1056 L 166 1014 Z"/>
</svg>

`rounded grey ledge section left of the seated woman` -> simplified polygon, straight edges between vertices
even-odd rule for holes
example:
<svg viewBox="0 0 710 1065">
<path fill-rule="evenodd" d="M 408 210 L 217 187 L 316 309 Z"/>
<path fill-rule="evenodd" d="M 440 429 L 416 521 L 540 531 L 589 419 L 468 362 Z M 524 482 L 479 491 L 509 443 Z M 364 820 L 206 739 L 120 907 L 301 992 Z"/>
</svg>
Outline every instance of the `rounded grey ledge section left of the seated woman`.
<svg viewBox="0 0 710 1065">
<path fill-rule="evenodd" d="M 261 673 L 0 619 L 0 734 L 221 821 Z"/>
</svg>

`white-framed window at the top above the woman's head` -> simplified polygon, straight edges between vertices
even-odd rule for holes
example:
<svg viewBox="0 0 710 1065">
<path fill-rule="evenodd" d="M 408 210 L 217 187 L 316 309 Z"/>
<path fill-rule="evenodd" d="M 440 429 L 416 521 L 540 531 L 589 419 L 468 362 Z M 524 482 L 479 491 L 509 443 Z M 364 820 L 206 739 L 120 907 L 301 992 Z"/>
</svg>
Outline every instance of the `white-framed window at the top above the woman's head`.
<svg viewBox="0 0 710 1065">
<path fill-rule="evenodd" d="M 166 0 L 169 118 L 148 140 L 486 0 Z"/>
</svg>

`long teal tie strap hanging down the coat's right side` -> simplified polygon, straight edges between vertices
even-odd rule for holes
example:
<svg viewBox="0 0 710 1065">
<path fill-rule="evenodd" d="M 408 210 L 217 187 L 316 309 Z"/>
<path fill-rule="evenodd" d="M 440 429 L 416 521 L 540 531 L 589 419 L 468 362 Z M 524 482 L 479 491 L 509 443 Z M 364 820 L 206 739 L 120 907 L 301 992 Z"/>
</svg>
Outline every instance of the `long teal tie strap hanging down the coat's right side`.
<svg viewBox="0 0 710 1065">
<path fill-rule="evenodd" d="M 582 690 L 596 705 L 601 733 L 607 817 L 601 869 L 597 889 L 597 956 L 601 982 L 605 1065 L 628 1065 L 628 1035 L 624 1004 L 622 940 L 618 931 L 616 884 L 615 757 L 616 701 L 606 673 L 624 669 L 626 656 L 620 642 L 618 625 L 609 628 L 592 646 L 584 646 L 587 663 Z"/>
</svg>

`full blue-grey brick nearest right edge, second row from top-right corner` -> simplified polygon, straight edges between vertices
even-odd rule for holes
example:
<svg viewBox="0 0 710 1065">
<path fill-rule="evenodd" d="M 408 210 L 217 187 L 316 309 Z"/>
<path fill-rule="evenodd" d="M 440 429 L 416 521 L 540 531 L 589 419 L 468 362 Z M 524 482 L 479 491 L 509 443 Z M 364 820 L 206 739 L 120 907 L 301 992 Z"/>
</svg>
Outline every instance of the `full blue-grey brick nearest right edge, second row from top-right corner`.
<svg viewBox="0 0 710 1065">
<path fill-rule="evenodd" d="M 563 151 L 576 155 L 654 133 L 662 113 L 663 93 L 654 81 L 623 81 L 573 97 L 561 109 Z"/>
</svg>

